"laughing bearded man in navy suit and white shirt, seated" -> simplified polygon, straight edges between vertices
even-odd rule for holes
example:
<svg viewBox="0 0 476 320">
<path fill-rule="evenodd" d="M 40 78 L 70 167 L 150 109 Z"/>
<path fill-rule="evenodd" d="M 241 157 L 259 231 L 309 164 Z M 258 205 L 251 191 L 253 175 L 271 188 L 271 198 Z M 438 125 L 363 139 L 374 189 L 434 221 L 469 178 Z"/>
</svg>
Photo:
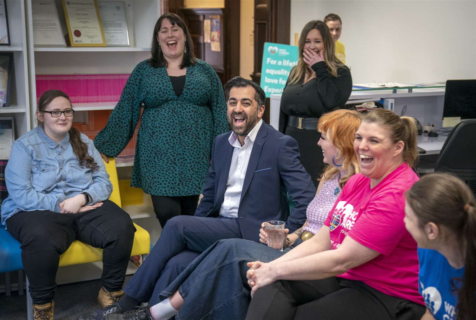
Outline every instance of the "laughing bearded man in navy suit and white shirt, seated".
<svg viewBox="0 0 476 320">
<path fill-rule="evenodd" d="M 299 162 L 296 140 L 261 120 L 264 91 L 253 81 L 235 77 L 225 84 L 225 97 L 232 130 L 213 143 L 195 215 L 168 220 L 153 250 L 124 287 L 124 297 L 79 320 L 102 319 L 149 300 L 150 305 L 158 303 L 159 293 L 217 240 L 259 242 L 262 222 L 283 220 L 293 232 L 306 221 L 306 208 L 316 189 Z M 291 212 L 287 194 L 295 203 Z"/>
</svg>

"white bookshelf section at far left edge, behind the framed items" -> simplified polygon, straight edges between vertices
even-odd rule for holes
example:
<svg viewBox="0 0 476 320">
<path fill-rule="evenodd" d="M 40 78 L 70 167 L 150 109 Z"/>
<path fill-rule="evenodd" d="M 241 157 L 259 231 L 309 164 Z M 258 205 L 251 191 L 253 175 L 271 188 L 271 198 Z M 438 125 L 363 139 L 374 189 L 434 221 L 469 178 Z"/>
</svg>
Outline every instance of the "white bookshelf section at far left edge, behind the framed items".
<svg viewBox="0 0 476 320">
<path fill-rule="evenodd" d="M 7 0 L 7 15 L 10 46 L 0 46 L 0 52 L 13 53 L 13 77 L 10 88 L 10 106 L 0 109 L 0 117 L 13 117 L 15 139 L 17 139 L 31 129 L 25 3 L 18 0 Z"/>
</svg>

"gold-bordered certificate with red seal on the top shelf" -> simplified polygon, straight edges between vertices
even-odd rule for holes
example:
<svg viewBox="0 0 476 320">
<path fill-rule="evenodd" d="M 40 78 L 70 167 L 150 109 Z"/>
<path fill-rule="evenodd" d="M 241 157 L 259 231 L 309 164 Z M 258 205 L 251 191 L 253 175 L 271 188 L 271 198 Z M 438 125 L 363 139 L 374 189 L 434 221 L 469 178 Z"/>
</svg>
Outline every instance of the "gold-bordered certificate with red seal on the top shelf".
<svg viewBox="0 0 476 320">
<path fill-rule="evenodd" d="M 63 0 L 71 47 L 105 47 L 97 0 Z"/>
</svg>

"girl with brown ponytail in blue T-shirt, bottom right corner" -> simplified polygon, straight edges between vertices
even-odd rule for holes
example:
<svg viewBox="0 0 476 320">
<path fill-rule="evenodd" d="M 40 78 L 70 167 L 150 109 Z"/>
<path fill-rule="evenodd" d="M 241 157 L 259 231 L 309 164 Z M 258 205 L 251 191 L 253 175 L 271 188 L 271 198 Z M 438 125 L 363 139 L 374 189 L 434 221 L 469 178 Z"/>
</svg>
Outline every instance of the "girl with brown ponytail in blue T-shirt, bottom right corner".
<svg viewBox="0 0 476 320">
<path fill-rule="evenodd" d="M 476 200 L 456 176 L 424 176 L 407 191 L 405 227 L 418 243 L 422 320 L 476 319 Z"/>
</svg>

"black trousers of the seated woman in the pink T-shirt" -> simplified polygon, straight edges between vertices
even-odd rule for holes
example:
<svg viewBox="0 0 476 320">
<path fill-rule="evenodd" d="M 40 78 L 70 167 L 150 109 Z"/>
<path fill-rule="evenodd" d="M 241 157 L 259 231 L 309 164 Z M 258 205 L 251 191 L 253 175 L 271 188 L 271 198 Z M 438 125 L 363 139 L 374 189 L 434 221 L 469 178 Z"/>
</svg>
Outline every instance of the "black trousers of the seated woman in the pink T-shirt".
<svg viewBox="0 0 476 320">
<path fill-rule="evenodd" d="M 247 320 L 415 320 L 425 307 L 382 293 L 362 281 L 279 280 L 258 289 Z"/>
</svg>

